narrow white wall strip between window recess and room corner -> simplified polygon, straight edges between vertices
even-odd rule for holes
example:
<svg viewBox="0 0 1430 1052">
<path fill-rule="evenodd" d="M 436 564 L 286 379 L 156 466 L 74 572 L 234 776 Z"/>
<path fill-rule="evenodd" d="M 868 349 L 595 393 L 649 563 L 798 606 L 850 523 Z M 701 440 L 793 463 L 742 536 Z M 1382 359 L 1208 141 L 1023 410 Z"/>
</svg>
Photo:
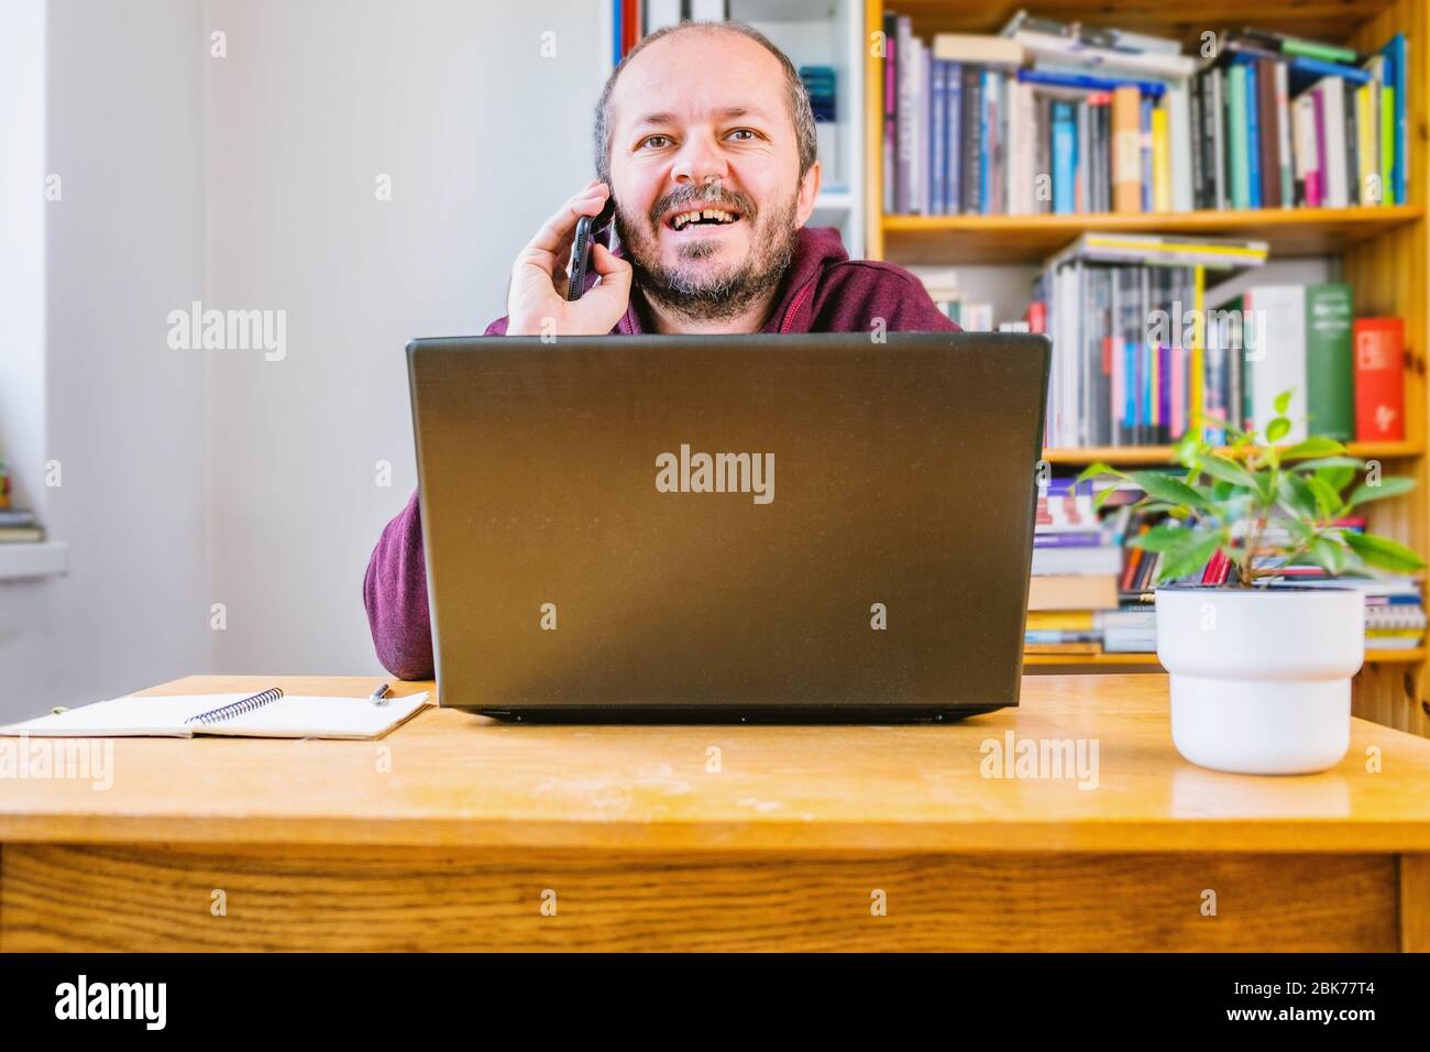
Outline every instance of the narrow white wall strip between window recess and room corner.
<svg viewBox="0 0 1430 1052">
<path fill-rule="evenodd" d="M 46 525 L 54 704 L 209 661 L 207 366 L 166 344 L 202 288 L 197 6 L 49 4 Z"/>
</svg>

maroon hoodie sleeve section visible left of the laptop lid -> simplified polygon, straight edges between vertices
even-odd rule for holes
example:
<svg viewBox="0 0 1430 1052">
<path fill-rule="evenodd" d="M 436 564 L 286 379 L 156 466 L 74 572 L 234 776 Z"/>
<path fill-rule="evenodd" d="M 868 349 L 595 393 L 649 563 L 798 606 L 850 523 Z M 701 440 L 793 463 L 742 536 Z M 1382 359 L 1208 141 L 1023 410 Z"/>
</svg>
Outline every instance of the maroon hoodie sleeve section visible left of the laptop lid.
<svg viewBox="0 0 1430 1052">
<path fill-rule="evenodd" d="M 418 494 L 378 538 L 363 578 L 368 627 L 382 667 L 399 680 L 430 680 L 432 621 Z"/>
</svg>

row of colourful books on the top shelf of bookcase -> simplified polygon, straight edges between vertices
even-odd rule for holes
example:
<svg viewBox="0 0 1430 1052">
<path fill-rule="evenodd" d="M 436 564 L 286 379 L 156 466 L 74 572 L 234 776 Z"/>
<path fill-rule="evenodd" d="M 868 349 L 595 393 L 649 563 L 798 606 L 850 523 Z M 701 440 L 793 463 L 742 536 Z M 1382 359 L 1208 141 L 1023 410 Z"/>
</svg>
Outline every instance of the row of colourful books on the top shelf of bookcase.
<svg viewBox="0 0 1430 1052">
<path fill-rule="evenodd" d="M 1020 11 L 998 36 L 885 14 L 891 215 L 1346 208 L 1407 200 L 1406 42 L 1178 40 Z"/>
</svg>

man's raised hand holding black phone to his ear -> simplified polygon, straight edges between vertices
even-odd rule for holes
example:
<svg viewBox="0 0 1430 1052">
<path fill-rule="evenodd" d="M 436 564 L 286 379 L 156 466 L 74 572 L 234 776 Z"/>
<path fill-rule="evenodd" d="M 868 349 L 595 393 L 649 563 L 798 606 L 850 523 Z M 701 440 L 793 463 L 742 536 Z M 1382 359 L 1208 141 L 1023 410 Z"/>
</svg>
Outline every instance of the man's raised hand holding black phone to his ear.
<svg viewBox="0 0 1430 1052">
<path fill-rule="evenodd" d="M 593 179 L 522 249 L 506 298 L 508 335 L 605 335 L 621 321 L 631 303 L 631 265 L 602 243 L 611 225 L 609 218 L 602 222 L 603 213 L 615 215 L 611 190 Z M 582 252 L 573 253 L 582 226 Z M 586 266 L 601 281 L 579 299 L 568 299 L 573 288 L 579 295 Z"/>
</svg>

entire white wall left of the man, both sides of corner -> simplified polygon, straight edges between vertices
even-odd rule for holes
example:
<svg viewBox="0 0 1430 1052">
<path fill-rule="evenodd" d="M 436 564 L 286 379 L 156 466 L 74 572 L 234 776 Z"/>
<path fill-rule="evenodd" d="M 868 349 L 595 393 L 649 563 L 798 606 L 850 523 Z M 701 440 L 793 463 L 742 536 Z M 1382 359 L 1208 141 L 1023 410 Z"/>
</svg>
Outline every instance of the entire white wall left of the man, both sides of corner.
<svg viewBox="0 0 1430 1052">
<path fill-rule="evenodd" d="M 0 442 L 70 571 L 0 583 L 0 720 L 210 670 L 378 673 L 360 581 L 415 485 L 403 346 L 500 315 L 591 177 L 605 6 L 3 14 Z M 170 349 L 194 299 L 285 311 L 285 361 Z"/>
</svg>

